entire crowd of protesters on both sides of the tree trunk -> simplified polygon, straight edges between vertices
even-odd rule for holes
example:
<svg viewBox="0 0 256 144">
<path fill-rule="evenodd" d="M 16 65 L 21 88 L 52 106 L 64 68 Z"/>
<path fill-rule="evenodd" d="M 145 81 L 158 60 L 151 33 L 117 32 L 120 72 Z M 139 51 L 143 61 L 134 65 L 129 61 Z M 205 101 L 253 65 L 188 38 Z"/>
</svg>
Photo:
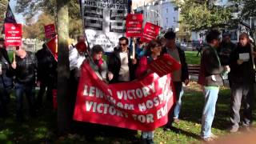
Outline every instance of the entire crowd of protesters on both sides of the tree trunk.
<svg viewBox="0 0 256 144">
<path fill-rule="evenodd" d="M 244 106 L 242 126 L 250 129 L 252 120 L 252 102 L 254 96 L 255 66 L 254 46 L 249 35 L 242 33 L 237 45 L 230 42 L 230 34 L 225 33 L 220 42 L 218 30 L 211 30 L 206 35 L 207 45 L 202 50 L 202 58 L 198 83 L 202 86 L 205 98 L 202 110 L 201 137 L 205 141 L 217 138 L 211 133 L 214 121 L 215 106 L 220 86 L 223 86 L 223 75 L 227 74 L 231 90 L 230 132 L 239 129 L 240 107 Z M 106 83 L 131 82 L 136 78 L 152 73 L 148 69 L 162 54 L 168 54 L 181 64 L 180 70 L 172 72 L 174 97 L 176 101 L 168 113 L 168 122 L 164 130 L 171 130 L 172 123 L 179 122 L 182 106 L 183 86 L 189 84 L 189 72 L 184 51 L 175 43 L 176 34 L 168 31 L 162 38 L 150 42 L 141 42 L 138 38 L 135 45 L 135 56 L 129 46 L 129 39 L 119 38 L 118 46 L 107 58 L 102 46 L 95 45 L 91 49 L 86 46 L 84 36 L 78 36 L 78 43 L 70 46 L 70 95 L 74 107 L 78 90 L 82 62 L 88 62 L 98 78 Z M 23 94 L 28 100 L 30 116 L 42 107 L 42 98 L 47 88 L 46 98 L 52 100 L 52 90 L 57 86 L 57 62 L 46 45 L 36 54 L 26 51 L 24 46 L 17 47 L 15 57 L 10 61 L 4 40 L 0 39 L 0 116 L 8 115 L 7 105 L 10 102 L 10 91 L 15 90 L 16 117 L 23 121 Z M 37 73 L 37 74 L 36 74 Z M 40 84 L 38 96 L 35 96 L 35 84 Z M 73 114 L 72 114 L 73 115 Z M 154 131 L 142 131 L 142 143 L 154 143 Z"/>
</svg>

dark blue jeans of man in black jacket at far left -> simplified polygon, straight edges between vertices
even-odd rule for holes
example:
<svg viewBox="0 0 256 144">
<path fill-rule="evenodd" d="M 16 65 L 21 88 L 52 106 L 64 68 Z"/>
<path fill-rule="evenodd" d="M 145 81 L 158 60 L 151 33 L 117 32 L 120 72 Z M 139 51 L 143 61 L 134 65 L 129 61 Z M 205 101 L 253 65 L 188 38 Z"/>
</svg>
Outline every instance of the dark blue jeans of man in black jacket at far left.
<svg viewBox="0 0 256 144">
<path fill-rule="evenodd" d="M 26 98 L 29 105 L 30 116 L 34 116 L 34 102 L 35 102 L 35 89 L 32 85 L 26 85 L 22 83 L 15 83 L 15 91 L 16 91 L 16 117 L 18 120 L 22 120 L 23 113 L 23 94 L 26 94 Z"/>
</svg>

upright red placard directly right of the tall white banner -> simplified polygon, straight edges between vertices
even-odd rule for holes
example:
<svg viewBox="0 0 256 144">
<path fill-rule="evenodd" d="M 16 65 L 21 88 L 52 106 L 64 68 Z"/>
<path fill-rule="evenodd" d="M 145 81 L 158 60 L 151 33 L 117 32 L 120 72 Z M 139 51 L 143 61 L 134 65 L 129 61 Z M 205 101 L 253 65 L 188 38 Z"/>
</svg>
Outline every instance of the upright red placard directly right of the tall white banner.
<svg viewBox="0 0 256 144">
<path fill-rule="evenodd" d="M 128 14 L 126 17 L 126 37 L 141 37 L 143 14 Z"/>
</svg>

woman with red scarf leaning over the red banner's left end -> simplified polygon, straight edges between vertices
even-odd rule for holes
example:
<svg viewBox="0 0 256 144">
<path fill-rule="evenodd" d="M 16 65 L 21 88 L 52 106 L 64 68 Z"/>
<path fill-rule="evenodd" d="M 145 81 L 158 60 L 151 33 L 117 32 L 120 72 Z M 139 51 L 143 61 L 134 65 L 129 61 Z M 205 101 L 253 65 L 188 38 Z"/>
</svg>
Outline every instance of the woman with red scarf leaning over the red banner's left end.
<svg viewBox="0 0 256 144">
<path fill-rule="evenodd" d="M 102 58 L 102 54 L 104 54 L 104 50 L 102 46 L 95 45 L 91 50 L 91 60 L 88 59 L 90 67 L 94 70 L 95 74 L 97 74 L 98 78 L 102 81 L 106 81 L 106 73 L 107 73 L 107 65 L 104 59 Z"/>
</svg>

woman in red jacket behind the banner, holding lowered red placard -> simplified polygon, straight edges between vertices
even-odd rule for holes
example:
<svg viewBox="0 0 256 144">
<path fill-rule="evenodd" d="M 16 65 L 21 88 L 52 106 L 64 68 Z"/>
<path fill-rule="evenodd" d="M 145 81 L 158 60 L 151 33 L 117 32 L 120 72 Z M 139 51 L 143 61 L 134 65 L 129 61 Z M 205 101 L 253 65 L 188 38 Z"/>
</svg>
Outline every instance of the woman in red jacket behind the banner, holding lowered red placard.
<svg viewBox="0 0 256 144">
<path fill-rule="evenodd" d="M 148 65 L 158 58 L 162 51 L 162 44 L 158 40 L 152 40 L 146 46 L 146 56 L 143 56 L 136 69 L 136 78 L 141 78 L 150 73 Z M 154 131 L 142 131 L 142 143 L 153 144 Z"/>
</svg>

